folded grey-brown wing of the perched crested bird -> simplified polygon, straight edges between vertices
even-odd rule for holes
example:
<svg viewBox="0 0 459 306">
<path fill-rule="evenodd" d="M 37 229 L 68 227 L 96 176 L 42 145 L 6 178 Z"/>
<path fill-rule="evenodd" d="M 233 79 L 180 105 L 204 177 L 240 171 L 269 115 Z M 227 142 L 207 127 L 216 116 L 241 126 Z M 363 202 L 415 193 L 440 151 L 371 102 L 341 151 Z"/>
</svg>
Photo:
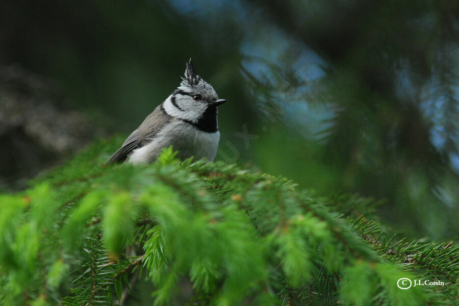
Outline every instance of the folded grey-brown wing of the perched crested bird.
<svg viewBox="0 0 459 306">
<path fill-rule="evenodd" d="M 133 150 L 143 147 L 149 143 L 156 134 L 172 120 L 172 117 L 166 114 L 162 105 L 158 106 L 148 117 L 143 120 L 142 124 L 127 137 L 123 145 L 110 157 L 107 164 L 122 162 L 126 160 Z"/>
</svg>

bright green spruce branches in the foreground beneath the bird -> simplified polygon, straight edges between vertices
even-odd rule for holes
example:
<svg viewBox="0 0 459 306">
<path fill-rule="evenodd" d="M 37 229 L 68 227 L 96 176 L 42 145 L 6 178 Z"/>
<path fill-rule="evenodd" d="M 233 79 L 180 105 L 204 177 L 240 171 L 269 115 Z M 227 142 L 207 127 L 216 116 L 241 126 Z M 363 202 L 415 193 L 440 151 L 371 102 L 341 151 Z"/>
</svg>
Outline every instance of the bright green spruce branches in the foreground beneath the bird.
<svg viewBox="0 0 459 306">
<path fill-rule="evenodd" d="M 0 304 L 131 305 L 145 290 L 156 305 L 459 300 L 459 247 L 387 235 L 376 201 L 180 162 L 172 148 L 151 165 L 106 167 L 120 140 L 0 196 Z M 444 285 L 401 290 L 403 277 Z"/>
</svg>

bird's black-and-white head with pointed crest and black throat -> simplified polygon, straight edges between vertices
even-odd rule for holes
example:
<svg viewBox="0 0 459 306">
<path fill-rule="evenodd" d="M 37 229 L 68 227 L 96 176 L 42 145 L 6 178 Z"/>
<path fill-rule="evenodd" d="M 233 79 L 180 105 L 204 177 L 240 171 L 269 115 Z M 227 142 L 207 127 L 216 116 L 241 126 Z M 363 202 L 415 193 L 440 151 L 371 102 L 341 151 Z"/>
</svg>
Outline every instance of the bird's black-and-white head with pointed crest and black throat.
<svg viewBox="0 0 459 306">
<path fill-rule="evenodd" d="M 217 93 L 209 83 L 199 77 L 190 59 L 185 78 L 182 78 L 180 86 L 164 101 L 163 108 L 168 115 L 211 133 L 218 131 L 215 105 L 217 100 Z"/>
</svg>

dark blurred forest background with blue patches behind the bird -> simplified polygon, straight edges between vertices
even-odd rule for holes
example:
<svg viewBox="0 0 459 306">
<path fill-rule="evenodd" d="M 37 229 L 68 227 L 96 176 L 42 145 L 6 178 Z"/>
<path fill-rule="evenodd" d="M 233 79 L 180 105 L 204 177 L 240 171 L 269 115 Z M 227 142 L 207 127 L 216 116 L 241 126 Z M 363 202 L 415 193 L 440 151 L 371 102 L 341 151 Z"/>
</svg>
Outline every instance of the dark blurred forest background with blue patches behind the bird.
<svg viewBox="0 0 459 306">
<path fill-rule="evenodd" d="M 458 34 L 452 0 L 2 0 L 0 189 L 127 136 L 191 57 L 228 100 L 217 160 L 457 239 Z"/>
</svg>

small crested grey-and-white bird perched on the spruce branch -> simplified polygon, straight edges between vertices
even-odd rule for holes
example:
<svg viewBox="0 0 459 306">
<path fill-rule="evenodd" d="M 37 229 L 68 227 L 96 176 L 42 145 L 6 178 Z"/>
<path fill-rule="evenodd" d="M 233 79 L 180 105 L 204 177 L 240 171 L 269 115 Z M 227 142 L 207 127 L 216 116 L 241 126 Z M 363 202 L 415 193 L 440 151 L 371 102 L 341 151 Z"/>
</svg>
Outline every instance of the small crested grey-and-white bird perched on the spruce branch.
<svg viewBox="0 0 459 306">
<path fill-rule="evenodd" d="M 217 107 L 225 102 L 196 73 L 190 58 L 180 86 L 127 137 L 107 164 L 149 164 L 171 145 L 181 160 L 193 156 L 213 161 L 220 140 Z"/>
</svg>

